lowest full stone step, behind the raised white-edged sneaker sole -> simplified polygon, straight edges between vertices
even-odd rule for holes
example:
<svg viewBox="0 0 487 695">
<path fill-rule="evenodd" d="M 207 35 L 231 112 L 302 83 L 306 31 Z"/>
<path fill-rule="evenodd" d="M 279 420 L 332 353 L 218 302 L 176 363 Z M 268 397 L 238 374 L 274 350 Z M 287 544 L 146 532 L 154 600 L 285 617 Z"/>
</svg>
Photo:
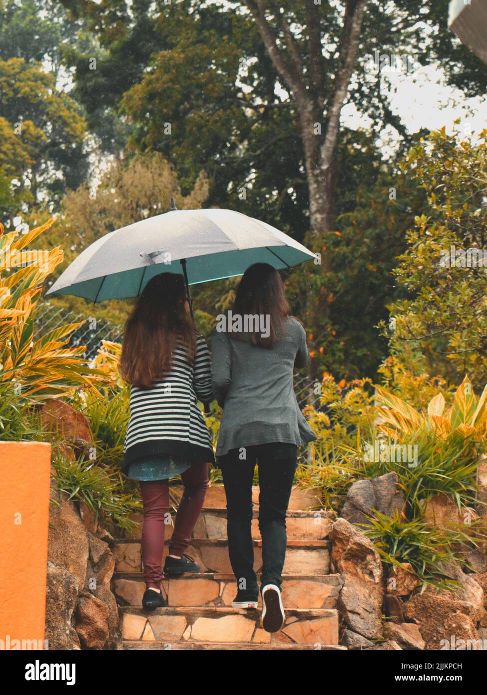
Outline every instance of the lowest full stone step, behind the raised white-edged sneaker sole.
<svg viewBox="0 0 487 695">
<path fill-rule="evenodd" d="M 338 644 L 336 610 L 288 609 L 283 628 L 272 634 L 261 628 L 260 611 L 170 607 L 147 614 L 142 608 L 120 607 L 119 613 L 122 637 L 131 642 L 310 644 L 316 649 Z"/>
</svg>

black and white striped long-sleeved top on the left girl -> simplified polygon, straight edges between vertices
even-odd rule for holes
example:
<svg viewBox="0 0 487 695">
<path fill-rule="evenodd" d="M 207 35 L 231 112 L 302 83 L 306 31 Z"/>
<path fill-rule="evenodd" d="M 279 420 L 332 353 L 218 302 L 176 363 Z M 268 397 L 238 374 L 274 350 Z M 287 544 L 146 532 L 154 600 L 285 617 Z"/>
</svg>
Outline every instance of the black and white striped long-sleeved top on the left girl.
<svg viewBox="0 0 487 695">
<path fill-rule="evenodd" d="M 197 334 L 193 363 L 179 343 L 170 373 L 150 389 L 131 386 L 123 467 L 154 454 L 213 462 L 210 433 L 197 405 L 198 400 L 213 398 L 210 354 L 204 337 Z"/>
</svg>

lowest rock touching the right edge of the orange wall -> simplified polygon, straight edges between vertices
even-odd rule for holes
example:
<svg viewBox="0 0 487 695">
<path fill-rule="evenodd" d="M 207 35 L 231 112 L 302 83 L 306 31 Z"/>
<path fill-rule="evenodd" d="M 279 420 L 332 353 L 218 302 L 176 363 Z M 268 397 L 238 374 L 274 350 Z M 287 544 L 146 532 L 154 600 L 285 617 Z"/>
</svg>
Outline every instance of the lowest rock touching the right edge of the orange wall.
<svg viewBox="0 0 487 695">
<path fill-rule="evenodd" d="M 72 626 L 79 587 L 64 567 L 47 563 L 45 639 L 49 649 L 79 649 L 79 639 Z"/>
</svg>

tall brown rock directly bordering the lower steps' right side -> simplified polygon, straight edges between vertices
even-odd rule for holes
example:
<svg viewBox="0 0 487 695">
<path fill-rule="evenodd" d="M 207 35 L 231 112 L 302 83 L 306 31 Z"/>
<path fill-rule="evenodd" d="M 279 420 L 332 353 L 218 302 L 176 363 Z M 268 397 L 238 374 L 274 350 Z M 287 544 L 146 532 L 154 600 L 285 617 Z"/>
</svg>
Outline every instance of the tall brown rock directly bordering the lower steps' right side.
<svg viewBox="0 0 487 695">
<path fill-rule="evenodd" d="M 374 544 L 344 518 L 331 527 L 331 557 L 343 586 L 338 609 L 345 623 L 359 635 L 382 635 L 382 564 Z"/>
</svg>

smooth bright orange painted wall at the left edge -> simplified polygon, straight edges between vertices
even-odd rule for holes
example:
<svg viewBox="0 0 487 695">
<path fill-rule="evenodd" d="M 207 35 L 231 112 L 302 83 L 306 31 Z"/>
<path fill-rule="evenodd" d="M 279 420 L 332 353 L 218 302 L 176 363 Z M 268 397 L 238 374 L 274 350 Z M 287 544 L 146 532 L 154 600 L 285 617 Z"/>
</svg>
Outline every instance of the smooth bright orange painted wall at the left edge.
<svg viewBox="0 0 487 695">
<path fill-rule="evenodd" d="M 50 472 L 50 444 L 0 442 L 0 639 L 4 644 L 7 635 L 10 641 L 44 639 Z"/>
</svg>

